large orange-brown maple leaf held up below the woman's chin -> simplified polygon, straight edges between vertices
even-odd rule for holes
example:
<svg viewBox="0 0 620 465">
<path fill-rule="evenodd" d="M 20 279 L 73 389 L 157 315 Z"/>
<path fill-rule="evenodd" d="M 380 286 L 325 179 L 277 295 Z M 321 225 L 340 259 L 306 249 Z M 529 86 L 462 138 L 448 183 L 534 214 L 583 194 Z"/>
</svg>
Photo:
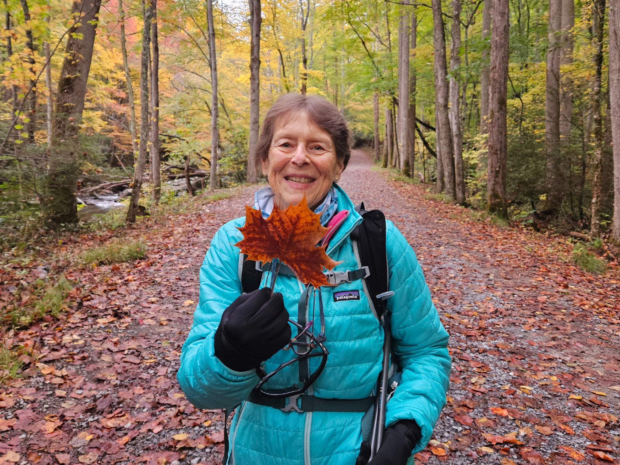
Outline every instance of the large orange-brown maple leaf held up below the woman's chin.
<svg viewBox="0 0 620 465">
<path fill-rule="evenodd" d="M 322 269 L 331 270 L 340 262 L 325 254 L 325 246 L 316 246 L 327 232 L 321 226 L 320 217 L 308 208 L 306 197 L 286 210 L 274 205 L 267 219 L 260 210 L 246 205 L 246 225 L 237 228 L 243 239 L 234 245 L 247 254 L 248 260 L 280 259 L 302 282 L 316 288 L 329 286 Z"/>
</svg>

